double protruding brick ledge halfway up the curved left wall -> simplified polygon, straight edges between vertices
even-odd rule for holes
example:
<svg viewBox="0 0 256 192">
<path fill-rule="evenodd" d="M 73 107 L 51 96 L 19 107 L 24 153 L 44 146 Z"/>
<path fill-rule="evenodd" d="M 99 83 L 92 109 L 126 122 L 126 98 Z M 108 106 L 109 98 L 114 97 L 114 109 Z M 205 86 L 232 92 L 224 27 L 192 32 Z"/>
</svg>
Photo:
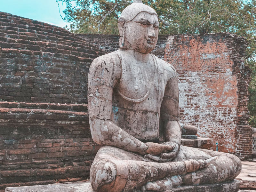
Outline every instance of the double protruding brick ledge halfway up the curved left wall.
<svg viewBox="0 0 256 192">
<path fill-rule="evenodd" d="M 0 102 L 0 112 L 0 119 L 4 119 L 3 121 L 13 119 L 13 121 L 19 120 L 20 123 L 21 121 L 33 123 L 35 120 L 65 120 L 87 124 L 85 121 L 89 118 L 85 104 Z"/>
</svg>

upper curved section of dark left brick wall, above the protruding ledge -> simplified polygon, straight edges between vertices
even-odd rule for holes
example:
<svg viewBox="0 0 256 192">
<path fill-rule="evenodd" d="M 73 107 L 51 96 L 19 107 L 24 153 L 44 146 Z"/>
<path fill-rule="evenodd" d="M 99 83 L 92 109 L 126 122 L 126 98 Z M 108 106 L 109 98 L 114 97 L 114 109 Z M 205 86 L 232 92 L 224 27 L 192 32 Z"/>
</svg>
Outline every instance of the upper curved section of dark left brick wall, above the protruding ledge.
<svg viewBox="0 0 256 192">
<path fill-rule="evenodd" d="M 0 100 L 86 103 L 102 50 L 67 30 L 0 12 Z"/>
</svg>

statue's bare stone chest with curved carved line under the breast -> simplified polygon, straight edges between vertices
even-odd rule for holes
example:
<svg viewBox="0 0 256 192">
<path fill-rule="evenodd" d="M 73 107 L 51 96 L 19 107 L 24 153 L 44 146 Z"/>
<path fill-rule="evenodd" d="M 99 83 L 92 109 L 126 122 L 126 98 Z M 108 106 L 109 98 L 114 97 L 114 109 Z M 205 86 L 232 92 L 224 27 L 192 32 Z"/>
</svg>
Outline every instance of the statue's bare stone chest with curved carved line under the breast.
<svg viewBox="0 0 256 192">
<path fill-rule="evenodd" d="M 147 63 L 136 60 L 122 63 L 122 75 L 116 90 L 124 100 L 134 104 L 154 100 L 161 105 L 159 102 L 162 102 L 164 88 L 163 69 L 153 60 Z"/>
</svg>

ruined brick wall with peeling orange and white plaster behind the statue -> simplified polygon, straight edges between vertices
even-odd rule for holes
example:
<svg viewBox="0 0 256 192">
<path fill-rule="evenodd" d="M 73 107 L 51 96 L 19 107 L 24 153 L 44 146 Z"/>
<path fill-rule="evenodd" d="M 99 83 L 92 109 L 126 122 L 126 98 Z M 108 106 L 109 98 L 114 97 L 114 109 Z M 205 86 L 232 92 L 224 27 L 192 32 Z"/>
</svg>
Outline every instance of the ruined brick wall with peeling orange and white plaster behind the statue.
<svg viewBox="0 0 256 192">
<path fill-rule="evenodd" d="M 197 126 L 199 136 L 219 143 L 219 151 L 241 158 L 252 154 L 246 47 L 236 35 L 175 35 L 164 56 L 179 76 L 181 123 Z"/>
</svg>

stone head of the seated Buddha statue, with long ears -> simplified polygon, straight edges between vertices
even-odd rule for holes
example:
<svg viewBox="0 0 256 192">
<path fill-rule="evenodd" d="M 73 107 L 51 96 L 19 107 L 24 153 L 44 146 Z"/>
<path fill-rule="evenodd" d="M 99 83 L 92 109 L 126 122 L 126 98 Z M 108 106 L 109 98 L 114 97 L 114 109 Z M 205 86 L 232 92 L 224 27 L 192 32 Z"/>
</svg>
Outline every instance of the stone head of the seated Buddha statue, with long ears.
<svg viewBox="0 0 256 192">
<path fill-rule="evenodd" d="M 118 19 L 120 49 L 151 52 L 156 46 L 158 26 L 155 10 L 143 4 L 141 0 L 134 0 Z"/>
</svg>

